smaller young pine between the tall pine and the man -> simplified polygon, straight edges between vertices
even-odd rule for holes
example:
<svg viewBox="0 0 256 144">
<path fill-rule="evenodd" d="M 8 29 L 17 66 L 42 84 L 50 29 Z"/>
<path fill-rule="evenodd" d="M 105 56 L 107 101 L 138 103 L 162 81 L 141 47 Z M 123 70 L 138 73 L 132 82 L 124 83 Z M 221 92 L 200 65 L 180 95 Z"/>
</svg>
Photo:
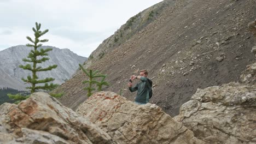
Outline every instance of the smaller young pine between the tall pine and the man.
<svg viewBox="0 0 256 144">
<path fill-rule="evenodd" d="M 98 86 L 98 92 L 101 91 L 102 86 L 108 86 L 108 82 L 104 81 L 106 78 L 106 75 L 98 74 L 98 70 L 92 71 L 91 69 L 87 71 L 83 68 L 81 64 L 79 64 L 79 67 L 84 71 L 85 75 L 89 77 L 89 80 L 83 81 L 83 83 L 89 83 L 88 87 L 85 87 L 84 89 L 87 91 L 87 96 L 90 97 L 92 95 L 92 91 L 95 90 L 93 87 L 94 84 Z M 96 81 L 98 77 L 102 77 L 102 80 L 100 82 Z"/>
</svg>

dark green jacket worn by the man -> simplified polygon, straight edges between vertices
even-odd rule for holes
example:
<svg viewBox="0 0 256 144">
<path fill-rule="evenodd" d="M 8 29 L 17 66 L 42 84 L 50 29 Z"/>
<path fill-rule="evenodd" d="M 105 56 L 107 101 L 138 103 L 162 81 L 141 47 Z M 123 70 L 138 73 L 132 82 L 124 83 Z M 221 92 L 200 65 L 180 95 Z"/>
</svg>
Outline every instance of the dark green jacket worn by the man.
<svg viewBox="0 0 256 144">
<path fill-rule="evenodd" d="M 136 83 L 134 87 L 129 87 L 131 92 L 137 91 L 135 102 L 141 104 L 147 104 L 149 102 L 149 87 L 148 79 L 143 76 L 141 76 L 141 82 Z"/>
</svg>

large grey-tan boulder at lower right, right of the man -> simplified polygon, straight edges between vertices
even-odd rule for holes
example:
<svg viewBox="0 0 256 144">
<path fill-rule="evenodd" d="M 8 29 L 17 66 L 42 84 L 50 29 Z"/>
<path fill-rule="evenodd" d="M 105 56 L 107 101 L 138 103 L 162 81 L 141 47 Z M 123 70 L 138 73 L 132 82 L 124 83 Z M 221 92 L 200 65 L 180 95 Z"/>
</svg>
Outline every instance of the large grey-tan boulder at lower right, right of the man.
<svg viewBox="0 0 256 144">
<path fill-rule="evenodd" d="M 174 119 L 207 143 L 256 143 L 256 85 L 197 89 Z"/>
</svg>

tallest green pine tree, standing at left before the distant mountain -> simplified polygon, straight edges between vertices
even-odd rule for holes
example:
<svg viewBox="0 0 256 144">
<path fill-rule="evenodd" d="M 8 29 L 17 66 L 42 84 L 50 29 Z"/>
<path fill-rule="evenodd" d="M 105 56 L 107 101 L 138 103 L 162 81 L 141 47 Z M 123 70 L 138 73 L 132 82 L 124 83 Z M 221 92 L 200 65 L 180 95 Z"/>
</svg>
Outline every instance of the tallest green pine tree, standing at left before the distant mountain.
<svg viewBox="0 0 256 144">
<path fill-rule="evenodd" d="M 57 65 L 49 65 L 49 67 L 47 67 L 47 68 L 42 68 L 42 67 L 38 66 L 38 64 L 49 60 L 49 57 L 44 57 L 44 56 L 48 56 L 47 52 L 53 50 L 50 48 L 38 50 L 39 47 L 42 46 L 42 43 L 45 43 L 48 41 L 48 39 L 40 40 L 39 38 L 42 37 L 45 33 L 47 33 L 49 31 L 48 29 L 46 29 L 44 31 L 40 31 L 40 27 L 41 27 L 41 24 L 36 22 L 36 28 L 34 28 L 34 27 L 32 28 L 33 32 L 34 32 L 34 40 L 32 40 L 32 38 L 30 38 L 28 36 L 26 37 L 32 43 L 32 44 L 26 44 L 26 46 L 33 47 L 33 48 L 30 51 L 30 53 L 28 53 L 27 58 L 22 59 L 22 61 L 29 62 L 31 64 L 19 65 L 20 68 L 22 68 L 24 70 L 30 70 L 32 73 L 32 76 L 28 75 L 27 79 L 22 78 L 22 81 L 31 84 L 30 87 L 26 87 L 27 89 L 30 89 L 31 94 L 36 92 L 38 89 L 44 89 L 44 90 L 50 91 L 58 86 L 53 83 L 48 84 L 48 82 L 55 80 L 52 77 L 46 77 L 45 79 L 39 80 L 38 76 L 37 76 L 37 73 L 40 71 L 48 71 L 48 70 L 55 69 L 57 67 Z M 44 85 L 38 86 L 38 84 L 43 84 L 43 83 L 44 83 Z M 27 97 L 25 97 L 25 98 L 21 97 L 21 95 L 8 94 L 8 96 L 10 98 L 16 99 L 16 100 L 23 100 L 23 99 L 27 98 Z"/>
</svg>

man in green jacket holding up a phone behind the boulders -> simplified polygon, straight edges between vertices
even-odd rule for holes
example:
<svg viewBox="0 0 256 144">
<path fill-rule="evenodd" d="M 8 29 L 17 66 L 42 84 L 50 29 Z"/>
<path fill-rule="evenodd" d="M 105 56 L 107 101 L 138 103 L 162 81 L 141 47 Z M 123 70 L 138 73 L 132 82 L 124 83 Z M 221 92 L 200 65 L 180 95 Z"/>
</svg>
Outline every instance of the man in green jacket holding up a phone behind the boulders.
<svg viewBox="0 0 256 144">
<path fill-rule="evenodd" d="M 136 83 L 134 87 L 132 87 L 132 82 L 128 83 L 129 90 L 131 92 L 137 91 L 137 95 L 135 98 L 135 103 L 139 105 L 147 104 L 149 102 L 150 91 L 152 91 L 152 81 L 148 79 L 148 71 L 141 70 L 139 71 L 139 76 L 132 75 L 131 80 L 138 79 L 141 82 Z"/>
</svg>

